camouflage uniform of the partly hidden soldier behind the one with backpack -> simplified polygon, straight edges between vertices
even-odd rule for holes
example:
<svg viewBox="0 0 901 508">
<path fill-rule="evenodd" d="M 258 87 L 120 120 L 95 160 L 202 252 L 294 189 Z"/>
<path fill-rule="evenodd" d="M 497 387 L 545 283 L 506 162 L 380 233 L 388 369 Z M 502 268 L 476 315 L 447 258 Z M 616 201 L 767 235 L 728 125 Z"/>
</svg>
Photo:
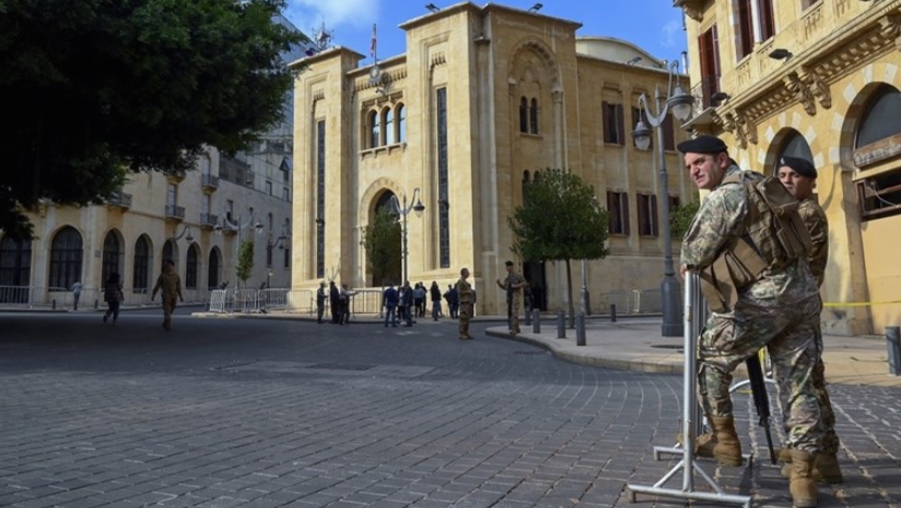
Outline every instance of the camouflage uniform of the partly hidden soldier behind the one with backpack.
<svg viewBox="0 0 901 508">
<path fill-rule="evenodd" d="M 817 203 L 817 198 L 808 196 L 800 202 L 798 213 L 810 232 L 810 253 L 807 262 L 810 264 L 810 272 L 817 280 L 817 286 L 822 285 L 826 273 L 826 261 L 829 258 L 829 223 L 826 213 Z M 817 397 L 820 401 L 826 436 L 823 437 L 822 451 L 835 454 L 839 452 L 839 436 L 835 434 L 835 412 L 832 410 L 832 402 L 829 391 L 826 389 L 826 367 L 822 363 L 822 334 L 817 333 L 817 363 L 814 366 L 814 386 L 817 388 Z"/>
</svg>

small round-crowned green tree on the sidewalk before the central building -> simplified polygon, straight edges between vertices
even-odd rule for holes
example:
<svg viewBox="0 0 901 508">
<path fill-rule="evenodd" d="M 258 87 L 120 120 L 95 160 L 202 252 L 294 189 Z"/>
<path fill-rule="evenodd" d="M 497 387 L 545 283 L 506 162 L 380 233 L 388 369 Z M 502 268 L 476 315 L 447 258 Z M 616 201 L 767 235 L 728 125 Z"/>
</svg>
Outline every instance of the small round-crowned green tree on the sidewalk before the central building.
<svg viewBox="0 0 901 508">
<path fill-rule="evenodd" d="M 563 169 L 541 172 L 526 188 L 525 203 L 507 217 L 513 253 L 528 261 L 565 261 L 571 323 L 575 311 L 570 261 L 607 257 L 608 217 L 595 189 Z"/>
</svg>

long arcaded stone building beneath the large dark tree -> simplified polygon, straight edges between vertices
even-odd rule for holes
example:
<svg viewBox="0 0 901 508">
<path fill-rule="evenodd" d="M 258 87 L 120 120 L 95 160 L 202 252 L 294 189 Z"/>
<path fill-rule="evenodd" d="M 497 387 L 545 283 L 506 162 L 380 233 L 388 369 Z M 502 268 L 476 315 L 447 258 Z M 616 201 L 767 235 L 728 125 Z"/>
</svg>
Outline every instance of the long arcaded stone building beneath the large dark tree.
<svg viewBox="0 0 901 508">
<path fill-rule="evenodd" d="M 223 283 L 236 287 L 237 245 L 250 237 L 248 286 L 288 287 L 290 160 L 290 138 L 273 132 L 235 158 L 210 150 L 184 178 L 134 175 L 104 205 L 43 204 L 28 214 L 34 240 L 0 234 L 0 304 L 68 306 L 79 281 L 82 300 L 102 306 L 113 272 L 122 277 L 127 305 L 145 304 L 166 259 L 176 263 L 185 302 L 207 302 Z"/>
</svg>

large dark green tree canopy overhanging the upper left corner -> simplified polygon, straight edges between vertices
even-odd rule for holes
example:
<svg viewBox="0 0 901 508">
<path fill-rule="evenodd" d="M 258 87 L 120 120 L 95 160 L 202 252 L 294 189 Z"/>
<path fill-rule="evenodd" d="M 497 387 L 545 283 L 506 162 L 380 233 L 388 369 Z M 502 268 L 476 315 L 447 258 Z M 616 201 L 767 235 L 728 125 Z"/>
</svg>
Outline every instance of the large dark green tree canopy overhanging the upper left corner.
<svg viewBox="0 0 901 508">
<path fill-rule="evenodd" d="M 306 37 L 284 0 L 0 0 L 0 228 L 42 200 L 101 203 L 129 173 L 183 174 L 282 117 Z"/>
</svg>

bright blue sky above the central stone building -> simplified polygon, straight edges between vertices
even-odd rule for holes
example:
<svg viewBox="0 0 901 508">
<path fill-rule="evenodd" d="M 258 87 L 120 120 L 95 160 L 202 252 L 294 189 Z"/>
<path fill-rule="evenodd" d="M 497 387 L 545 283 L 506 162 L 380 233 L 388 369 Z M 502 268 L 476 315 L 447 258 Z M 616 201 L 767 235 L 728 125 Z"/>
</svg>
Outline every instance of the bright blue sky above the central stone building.
<svg viewBox="0 0 901 508">
<path fill-rule="evenodd" d="M 370 60 L 372 25 L 378 26 L 379 59 L 405 52 L 406 33 L 398 25 L 426 14 L 429 0 L 288 0 L 285 16 L 313 37 L 325 22 L 332 44 L 366 56 Z M 433 1 L 437 7 L 459 3 Z M 477 5 L 487 2 L 473 1 Z M 534 0 L 504 0 L 506 7 L 528 10 Z M 687 48 L 682 12 L 672 0 L 543 0 L 541 14 L 582 23 L 578 36 L 617 37 L 636 44 L 660 60 L 676 60 Z M 364 61 L 363 63 L 370 63 Z"/>
</svg>

